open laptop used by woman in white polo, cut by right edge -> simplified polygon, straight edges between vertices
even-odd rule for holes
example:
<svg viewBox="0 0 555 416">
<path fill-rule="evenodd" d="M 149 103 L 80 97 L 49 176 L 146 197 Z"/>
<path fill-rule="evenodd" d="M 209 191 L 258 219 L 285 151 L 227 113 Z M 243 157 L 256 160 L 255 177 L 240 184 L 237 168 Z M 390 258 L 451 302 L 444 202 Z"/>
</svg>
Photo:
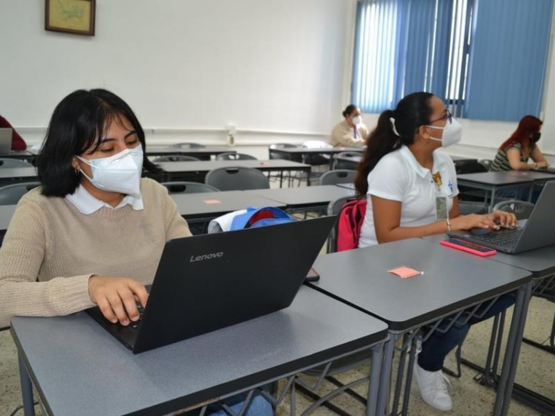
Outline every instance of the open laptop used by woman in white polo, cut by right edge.
<svg viewBox="0 0 555 416">
<path fill-rule="evenodd" d="M 484 235 L 474 235 L 468 231 L 452 231 L 447 234 L 511 254 L 554 245 L 555 181 L 545 183 L 529 218 L 519 221 L 518 228 L 493 230 Z"/>
</svg>

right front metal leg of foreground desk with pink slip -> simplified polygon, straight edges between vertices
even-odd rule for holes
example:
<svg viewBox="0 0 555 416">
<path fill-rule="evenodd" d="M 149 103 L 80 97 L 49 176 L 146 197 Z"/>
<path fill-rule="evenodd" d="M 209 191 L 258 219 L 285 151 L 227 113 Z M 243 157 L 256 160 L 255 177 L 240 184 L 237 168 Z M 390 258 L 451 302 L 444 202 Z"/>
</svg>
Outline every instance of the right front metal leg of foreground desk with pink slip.
<svg viewBox="0 0 555 416">
<path fill-rule="evenodd" d="M 509 403 L 513 392 L 513 384 L 515 383 L 516 367 L 518 364 L 518 354 L 520 354 L 520 345 L 522 344 L 522 334 L 524 333 L 524 324 L 526 323 L 526 315 L 528 313 L 528 304 L 532 294 L 532 284 L 529 283 L 518 289 L 515 308 L 513 311 L 513 319 L 511 320 L 511 329 L 505 349 L 505 358 L 501 370 L 499 385 L 497 385 L 497 395 L 495 397 L 495 406 L 493 415 L 506 415 L 509 410 Z"/>
</svg>

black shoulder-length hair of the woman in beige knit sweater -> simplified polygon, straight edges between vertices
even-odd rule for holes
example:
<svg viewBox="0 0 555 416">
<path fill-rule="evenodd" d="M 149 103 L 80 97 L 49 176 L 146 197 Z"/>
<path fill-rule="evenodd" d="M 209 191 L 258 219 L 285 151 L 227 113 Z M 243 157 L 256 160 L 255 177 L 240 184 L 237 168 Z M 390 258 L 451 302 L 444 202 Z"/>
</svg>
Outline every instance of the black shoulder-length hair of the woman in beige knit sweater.
<svg viewBox="0 0 555 416">
<path fill-rule="evenodd" d="M 64 197 L 74 193 L 80 182 L 71 159 L 85 150 L 96 150 L 112 121 L 125 117 L 133 125 L 145 151 L 144 130 L 129 105 L 105 89 L 78 89 L 66 96 L 54 109 L 46 137 L 37 158 L 37 173 L 46 196 Z M 143 168 L 158 173 L 160 168 L 146 157 Z"/>
</svg>

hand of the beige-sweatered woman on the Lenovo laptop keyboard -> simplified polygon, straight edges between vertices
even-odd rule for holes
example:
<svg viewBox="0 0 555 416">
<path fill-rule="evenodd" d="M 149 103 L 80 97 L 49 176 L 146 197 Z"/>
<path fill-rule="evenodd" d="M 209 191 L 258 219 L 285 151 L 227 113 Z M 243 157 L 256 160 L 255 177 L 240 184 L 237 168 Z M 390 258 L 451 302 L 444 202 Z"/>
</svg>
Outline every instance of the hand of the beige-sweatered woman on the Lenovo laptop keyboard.
<svg viewBox="0 0 555 416">
<path fill-rule="evenodd" d="M 128 325 L 139 319 L 136 302 L 145 306 L 148 293 L 144 285 L 127 277 L 92 275 L 89 277 L 89 297 L 107 320 Z"/>
</svg>

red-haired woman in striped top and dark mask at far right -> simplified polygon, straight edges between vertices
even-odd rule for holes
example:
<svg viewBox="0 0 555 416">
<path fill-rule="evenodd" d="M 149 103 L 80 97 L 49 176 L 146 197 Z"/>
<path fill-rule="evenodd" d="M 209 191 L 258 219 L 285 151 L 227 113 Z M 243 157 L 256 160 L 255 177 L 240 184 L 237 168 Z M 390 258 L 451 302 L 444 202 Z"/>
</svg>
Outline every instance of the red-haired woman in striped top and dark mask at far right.
<svg viewBox="0 0 555 416">
<path fill-rule="evenodd" d="M 538 148 L 543 121 L 534 116 L 524 116 L 515 132 L 499 147 L 490 171 L 530 171 L 547 168 L 548 163 Z M 528 163 L 532 158 L 533 163 Z"/>
</svg>

